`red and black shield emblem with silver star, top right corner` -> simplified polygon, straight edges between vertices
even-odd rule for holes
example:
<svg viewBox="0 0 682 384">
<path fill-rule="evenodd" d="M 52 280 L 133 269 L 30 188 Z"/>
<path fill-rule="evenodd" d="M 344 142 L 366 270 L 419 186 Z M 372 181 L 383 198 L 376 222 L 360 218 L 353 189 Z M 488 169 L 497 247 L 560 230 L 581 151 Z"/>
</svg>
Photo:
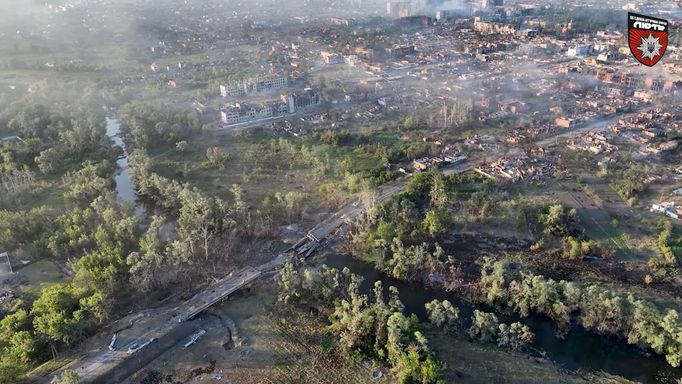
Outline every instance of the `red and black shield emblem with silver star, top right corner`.
<svg viewBox="0 0 682 384">
<path fill-rule="evenodd" d="M 628 44 L 637 61 L 653 67 L 668 48 L 668 21 L 628 13 Z"/>
</svg>

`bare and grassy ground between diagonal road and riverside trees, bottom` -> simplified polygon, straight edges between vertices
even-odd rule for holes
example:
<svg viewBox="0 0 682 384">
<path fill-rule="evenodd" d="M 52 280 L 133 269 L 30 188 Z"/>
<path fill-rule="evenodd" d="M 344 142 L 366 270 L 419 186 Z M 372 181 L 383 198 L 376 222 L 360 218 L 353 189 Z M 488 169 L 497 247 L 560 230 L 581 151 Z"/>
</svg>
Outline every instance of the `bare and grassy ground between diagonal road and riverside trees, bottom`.
<svg viewBox="0 0 682 384">
<path fill-rule="evenodd" d="M 187 384 L 237 378 L 240 384 L 388 382 L 372 380 L 370 370 L 340 355 L 317 318 L 298 310 L 281 312 L 274 300 L 264 289 L 235 295 L 194 322 L 207 331 L 197 343 L 185 348 L 181 342 L 125 383 L 143 383 L 158 374 Z M 231 322 L 236 325 L 232 334 Z"/>
</svg>

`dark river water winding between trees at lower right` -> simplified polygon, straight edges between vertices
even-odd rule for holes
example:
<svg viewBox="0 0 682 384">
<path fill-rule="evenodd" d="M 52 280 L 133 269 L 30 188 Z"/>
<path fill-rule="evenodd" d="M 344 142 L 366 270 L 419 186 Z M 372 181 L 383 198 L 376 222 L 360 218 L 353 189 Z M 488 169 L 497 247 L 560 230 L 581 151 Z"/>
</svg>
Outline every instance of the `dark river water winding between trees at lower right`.
<svg viewBox="0 0 682 384">
<path fill-rule="evenodd" d="M 361 290 L 369 293 L 374 282 L 380 280 L 384 287 L 394 286 L 400 291 L 400 299 L 407 312 L 415 313 L 420 320 L 427 320 L 424 304 L 438 300 L 449 300 L 460 308 L 460 316 L 469 318 L 474 309 L 491 311 L 490 308 L 474 306 L 443 290 L 426 290 L 406 284 L 378 272 L 373 266 L 350 256 L 328 255 L 323 263 L 334 268 L 347 267 L 351 272 L 364 277 Z M 518 321 L 518 318 L 499 316 L 501 321 Z M 533 347 L 547 354 L 547 357 L 569 370 L 604 371 L 642 383 L 661 383 L 662 377 L 680 378 L 682 369 L 672 368 L 659 355 L 647 356 L 638 348 L 623 340 L 605 337 L 573 325 L 563 338 L 557 338 L 552 321 L 544 316 L 521 319 L 535 333 Z"/>
</svg>

